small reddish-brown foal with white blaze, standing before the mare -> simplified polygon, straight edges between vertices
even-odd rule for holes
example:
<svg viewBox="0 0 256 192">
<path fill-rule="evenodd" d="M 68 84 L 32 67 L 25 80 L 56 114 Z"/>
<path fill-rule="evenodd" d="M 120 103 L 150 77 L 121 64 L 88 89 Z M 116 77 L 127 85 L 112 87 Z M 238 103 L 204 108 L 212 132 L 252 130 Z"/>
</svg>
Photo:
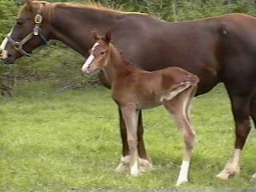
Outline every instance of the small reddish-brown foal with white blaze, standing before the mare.
<svg viewBox="0 0 256 192">
<path fill-rule="evenodd" d="M 131 175 L 139 174 L 138 163 L 143 162 L 138 161 L 138 110 L 163 105 L 174 115 L 175 122 L 182 130 L 186 147 L 177 184 L 187 182 L 195 138 L 189 111 L 197 90 L 198 77 L 179 67 L 154 72 L 134 68 L 110 42 L 110 31 L 104 37 L 94 32 L 94 39 L 96 42 L 90 49 L 90 57 L 82 66 L 82 71 L 90 74 L 104 70 L 111 84 L 112 98 L 122 110 L 130 156 L 120 166 L 129 165 Z M 150 166 L 150 163 L 141 166 Z"/>
</svg>

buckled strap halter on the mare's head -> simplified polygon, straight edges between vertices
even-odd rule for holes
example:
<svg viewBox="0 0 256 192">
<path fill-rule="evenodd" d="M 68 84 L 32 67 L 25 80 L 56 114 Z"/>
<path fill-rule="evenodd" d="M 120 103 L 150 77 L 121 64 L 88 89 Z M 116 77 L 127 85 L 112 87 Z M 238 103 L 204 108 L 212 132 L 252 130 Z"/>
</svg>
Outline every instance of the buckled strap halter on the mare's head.
<svg viewBox="0 0 256 192">
<path fill-rule="evenodd" d="M 30 41 L 30 39 L 33 38 L 34 36 L 39 36 L 40 38 L 42 38 L 42 40 L 44 42 L 44 45 L 41 46 L 41 48 L 39 48 L 39 50 L 36 51 L 34 54 L 37 54 L 40 50 L 42 50 L 42 48 L 44 48 L 45 46 L 48 45 L 47 39 L 42 34 L 42 29 L 40 27 L 40 25 L 42 23 L 41 10 L 42 10 L 42 4 L 40 5 L 40 7 L 38 9 L 38 13 L 34 16 L 33 32 L 26 35 L 26 37 L 23 38 L 20 42 L 16 42 L 16 41 L 14 41 L 13 38 L 10 37 L 10 35 L 8 35 L 8 34 L 6 35 L 6 38 L 8 39 L 8 42 L 10 42 L 10 44 L 14 47 L 14 49 L 18 50 L 22 55 L 24 55 L 26 57 L 31 57 L 33 54 L 30 54 L 30 53 L 26 52 L 26 50 L 23 49 L 23 46 L 26 44 L 26 42 Z"/>
</svg>

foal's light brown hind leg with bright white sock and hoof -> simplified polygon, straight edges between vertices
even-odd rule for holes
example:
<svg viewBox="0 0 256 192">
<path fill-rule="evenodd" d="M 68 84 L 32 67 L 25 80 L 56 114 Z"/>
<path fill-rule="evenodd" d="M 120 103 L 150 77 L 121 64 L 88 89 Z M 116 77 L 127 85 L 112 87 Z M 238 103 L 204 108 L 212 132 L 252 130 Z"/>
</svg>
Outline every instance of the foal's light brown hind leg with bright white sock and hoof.
<svg viewBox="0 0 256 192">
<path fill-rule="evenodd" d="M 182 158 L 182 166 L 178 176 L 176 185 L 180 185 L 183 182 L 188 182 L 188 174 L 190 168 L 190 160 L 192 156 L 192 150 L 194 148 L 194 138 L 196 136 L 193 126 L 190 124 L 189 110 L 192 102 L 192 98 L 196 92 L 195 86 L 183 90 L 169 101 L 164 101 L 163 104 L 166 110 L 170 111 L 174 115 L 174 120 L 177 126 L 182 130 L 185 151 Z"/>
</svg>

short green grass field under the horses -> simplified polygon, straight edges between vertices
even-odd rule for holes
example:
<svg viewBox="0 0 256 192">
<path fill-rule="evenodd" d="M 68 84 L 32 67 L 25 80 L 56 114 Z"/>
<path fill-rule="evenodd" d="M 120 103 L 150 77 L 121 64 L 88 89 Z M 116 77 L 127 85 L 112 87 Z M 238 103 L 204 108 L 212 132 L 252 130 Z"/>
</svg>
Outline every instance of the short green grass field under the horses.
<svg viewBox="0 0 256 192">
<path fill-rule="evenodd" d="M 183 141 L 163 107 L 144 113 L 145 140 L 154 170 L 132 178 L 115 174 L 121 155 L 117 107 L 103 87 L 56 93 L 47 82 L 22 82 L 0 100 L 0 191 L 174 189 Z M 251 131 L 242 171 L 215 178 L 234 145 L 234 122 L 223 86 L 194 99 L 198 138 L 190 182 L 180 189 L 252 189 L 256 135 Z"/>
</svg>

